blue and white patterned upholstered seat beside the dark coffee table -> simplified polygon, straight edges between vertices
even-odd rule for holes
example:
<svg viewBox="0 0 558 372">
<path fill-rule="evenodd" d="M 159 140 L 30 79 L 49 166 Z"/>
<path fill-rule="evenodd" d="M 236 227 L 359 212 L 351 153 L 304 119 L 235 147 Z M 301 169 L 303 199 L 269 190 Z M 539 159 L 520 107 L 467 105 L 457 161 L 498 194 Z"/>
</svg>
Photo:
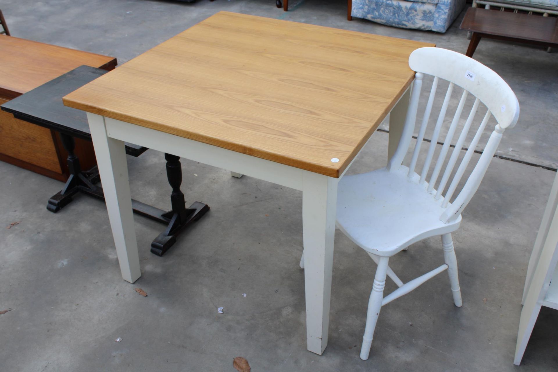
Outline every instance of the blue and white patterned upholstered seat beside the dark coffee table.
<svg viewBox="0 0 558 372">
<path fill-rule="evenodd" d="M 353 0 L 356 18 L 401 28 L 446 32 L 465 0 Z"/>
</svg>

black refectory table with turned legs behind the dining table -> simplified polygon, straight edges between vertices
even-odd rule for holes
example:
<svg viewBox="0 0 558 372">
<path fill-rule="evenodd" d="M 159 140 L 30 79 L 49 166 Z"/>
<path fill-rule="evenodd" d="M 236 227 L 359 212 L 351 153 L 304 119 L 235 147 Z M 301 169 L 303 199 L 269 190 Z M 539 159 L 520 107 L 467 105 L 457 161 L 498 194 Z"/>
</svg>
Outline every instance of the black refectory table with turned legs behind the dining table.
<svg viewBox="0 0 558 372">
<path fill-rule="evenodd" d="M 62 145 L 68 152 L 68 168 L 70 176 L 64 188 L 49 199 L 47 209 L 57 212 L 72 201 L 78 192 L 104 200 L 103 189 L 97 166 L 88 171 L 81 169 L 78 156 L 74 152 L 74 138 L 91 141 L 91 133 L 85 113 L 81 110 L 64 106 L 62 97 L 106 74 L 108 71 L 90 66 L 80 66 L 59 76 L 15 99 L 2 105 L 2 110 L 13 114 L 16 119 L 59 132 Z M 137 157 L 147 150 L 146 147 L 126 143 L 126 153 Z M 165 211 L 132 200 L 133 211 L 152 220 L 167 225 L 151 243 L 151 252 L 162 255 L 175 243 L 177 235 L 189 224 L 197 221 L 208 210 L 209 206 L 194 202 L 185 207 L 184 194 L 180 191 L 182 169 L 180 157 L 165 153 L 167 160 L 167 178 L 172 187 L 172 210 Z"/>
</svg>

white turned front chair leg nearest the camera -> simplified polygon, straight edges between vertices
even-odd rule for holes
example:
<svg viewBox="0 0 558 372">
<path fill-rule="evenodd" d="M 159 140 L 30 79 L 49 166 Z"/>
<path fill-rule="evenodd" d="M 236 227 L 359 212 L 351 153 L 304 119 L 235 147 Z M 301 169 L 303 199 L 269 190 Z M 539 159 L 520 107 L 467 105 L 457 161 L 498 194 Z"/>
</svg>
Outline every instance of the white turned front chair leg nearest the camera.
<svg viewBox="0 0 558 372">
<path fill-rule="evenodd" d="M 388 261 L 389 257 L 380 257 L 378 268 L 376 269 L 372 292 L 370 293 L 370 299 L 368 300 L 366 327 L 364 328 L 362 348 L 360 349 L 360 359 L 362 360 L 367 360 L 368 355 L 370 354 L 370 347 L 372 346 L 372 339 L 374 337 L 374 329 L 376 328 L 376 322 L 378 321 L 378 316 L 382 308 L 383 289 L 386 286 Z"/>
</svg>

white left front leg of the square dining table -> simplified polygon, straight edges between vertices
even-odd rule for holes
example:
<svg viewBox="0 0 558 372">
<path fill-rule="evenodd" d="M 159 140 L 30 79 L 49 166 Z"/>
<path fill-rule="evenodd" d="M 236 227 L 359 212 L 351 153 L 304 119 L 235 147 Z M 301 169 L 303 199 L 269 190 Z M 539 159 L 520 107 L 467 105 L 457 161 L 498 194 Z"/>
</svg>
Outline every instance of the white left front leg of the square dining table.
<svg viewBox="0 0 558 372">
<path fill-rule="evenodd" d="M 140 276 L 140 258 L 132 215 L 132 197 L 124 142 L 107 136 L 104 118 L 87 113 L 97 166 L 103 182 L 110 227 L 122 278 L 130 283 Z"/>
</svg>

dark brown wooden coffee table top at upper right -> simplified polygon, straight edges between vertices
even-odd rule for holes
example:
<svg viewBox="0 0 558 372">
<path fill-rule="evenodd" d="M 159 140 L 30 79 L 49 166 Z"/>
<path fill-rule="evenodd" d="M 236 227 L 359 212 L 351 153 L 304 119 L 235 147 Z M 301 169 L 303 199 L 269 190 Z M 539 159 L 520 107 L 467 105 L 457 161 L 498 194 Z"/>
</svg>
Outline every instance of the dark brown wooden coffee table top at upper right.
<svg viewBox="0 0 558 372">
<path fill-rule="evenodd" d="M 459 28 L 488 35 L 558 43 L 558 18 L 556 17 L 469 8 Z"/>
</svg>

